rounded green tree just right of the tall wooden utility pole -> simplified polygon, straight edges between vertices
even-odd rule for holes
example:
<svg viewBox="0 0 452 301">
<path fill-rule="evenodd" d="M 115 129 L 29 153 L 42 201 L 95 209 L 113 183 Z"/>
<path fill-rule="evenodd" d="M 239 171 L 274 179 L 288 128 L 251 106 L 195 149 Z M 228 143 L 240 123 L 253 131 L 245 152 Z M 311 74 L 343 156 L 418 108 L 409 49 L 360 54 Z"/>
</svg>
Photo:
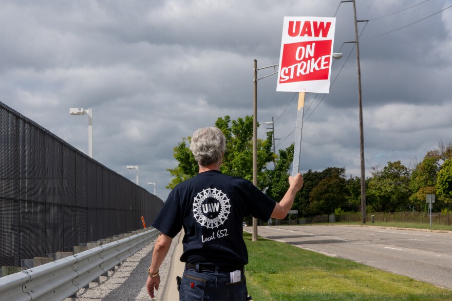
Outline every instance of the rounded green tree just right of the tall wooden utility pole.
<svg viewBox="0 0 452 301">
<path fill-rule="evenodd" d="M 372 168 L 367 194 L 368 203 L 380 212 L 394 212 L 407 207 L 409 189 L 409 170 L 400 161 L 388 162 L 384 168 Z"/>
</svg>

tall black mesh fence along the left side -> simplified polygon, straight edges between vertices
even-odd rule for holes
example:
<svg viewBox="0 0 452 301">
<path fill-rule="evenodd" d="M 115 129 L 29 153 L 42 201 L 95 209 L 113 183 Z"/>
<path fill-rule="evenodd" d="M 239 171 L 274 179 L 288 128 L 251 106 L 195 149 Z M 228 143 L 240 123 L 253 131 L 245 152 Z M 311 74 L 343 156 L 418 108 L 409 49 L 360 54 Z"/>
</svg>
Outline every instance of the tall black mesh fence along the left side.
<svg viewBox="0 0 452 301">
<path fill-rule="evenodd" d="M 0 102 L 0 266 L 141 229 L 162 206 Z"/>
</svg>

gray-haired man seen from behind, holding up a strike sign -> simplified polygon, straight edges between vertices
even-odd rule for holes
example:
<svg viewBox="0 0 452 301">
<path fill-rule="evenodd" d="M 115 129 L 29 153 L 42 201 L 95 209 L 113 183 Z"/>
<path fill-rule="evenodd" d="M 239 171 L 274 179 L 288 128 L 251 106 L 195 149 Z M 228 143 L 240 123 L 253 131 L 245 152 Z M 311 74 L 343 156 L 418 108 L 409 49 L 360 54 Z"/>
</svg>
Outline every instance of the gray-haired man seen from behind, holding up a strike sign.
<svg viewBox="0 0 452 301">
<path fill-rule="evenodd" d="M 202 128 L 193 134 L 190 150 L 199 173 L 171 191 L 153 224 L 161 234 L 148 269 L 146 288 L 151 297 L 154 288 L 159 288 L 159 267 L 183 227 L 180 260 L 185 269 L 179 299 L 245 300 L 248 292 L 243 267 L 248 264 L 248 252 L 242 237 L 243 217 L 283 219 L 303 187 L 300 173 L 290 176 L 289 189 L 276 203 L 248 180 L 220 172 L 225 149 L 226 138 L 218 128 Z"/>
</svg>

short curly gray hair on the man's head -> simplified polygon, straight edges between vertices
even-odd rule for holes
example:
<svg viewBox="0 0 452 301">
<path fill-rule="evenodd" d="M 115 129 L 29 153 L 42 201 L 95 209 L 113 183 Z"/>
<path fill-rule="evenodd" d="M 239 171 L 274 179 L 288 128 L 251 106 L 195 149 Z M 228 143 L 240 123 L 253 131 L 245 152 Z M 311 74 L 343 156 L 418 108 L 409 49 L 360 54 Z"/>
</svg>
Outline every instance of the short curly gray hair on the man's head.
<svg viewBox="0 0 452 301">
<path fill-rule="evenodd" d="M 226 150 L 226 137 L 219 128 L 197 129 L 193 133 L 190 150 L 200 166 L 218 162 Z"/>
</svg>

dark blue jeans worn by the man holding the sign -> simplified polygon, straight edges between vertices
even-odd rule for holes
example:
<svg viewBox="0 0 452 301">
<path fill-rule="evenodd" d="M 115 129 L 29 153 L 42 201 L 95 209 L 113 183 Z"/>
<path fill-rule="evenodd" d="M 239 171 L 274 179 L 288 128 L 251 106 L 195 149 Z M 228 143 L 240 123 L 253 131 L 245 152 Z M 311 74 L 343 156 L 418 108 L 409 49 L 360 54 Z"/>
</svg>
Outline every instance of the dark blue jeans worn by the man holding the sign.
<svg viewBox="0 0 452 301">
<path fill-rule="evenodd" d="M 200 270 L 185 267 L 179 290 L 180 301 L 245 301 L 247 281 L 241 272 L 240 282 L 231 283 L 229 272 Z"/>
</svg>

